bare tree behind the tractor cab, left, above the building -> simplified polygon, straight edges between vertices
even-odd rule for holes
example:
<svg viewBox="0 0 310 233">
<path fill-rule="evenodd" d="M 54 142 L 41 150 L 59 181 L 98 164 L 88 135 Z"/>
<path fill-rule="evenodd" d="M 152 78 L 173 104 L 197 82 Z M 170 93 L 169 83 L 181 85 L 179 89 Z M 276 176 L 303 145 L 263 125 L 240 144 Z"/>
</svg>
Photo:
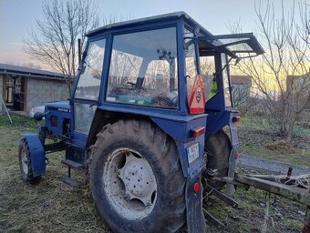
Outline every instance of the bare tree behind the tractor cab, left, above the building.
<svg viewBox="0 0 310 233">
<path fill-rule="evenodd" d="M 25 40 L 24 50 L 40 64 L 65 75 L 70 89 L 78 68 L 78 38 L 98 26 L 97 5 L 91 0 L 46 1 L 43 20 L 37 20 L 37 32 Z"/>
</svg>

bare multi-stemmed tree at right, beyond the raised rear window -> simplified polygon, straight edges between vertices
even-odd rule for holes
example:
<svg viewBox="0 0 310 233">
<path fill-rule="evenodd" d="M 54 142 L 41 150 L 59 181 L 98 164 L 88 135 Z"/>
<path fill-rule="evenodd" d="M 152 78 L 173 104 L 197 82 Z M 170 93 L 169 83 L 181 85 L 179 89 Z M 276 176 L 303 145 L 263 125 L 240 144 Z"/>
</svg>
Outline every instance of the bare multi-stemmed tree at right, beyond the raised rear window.
<svg viewBox="0 0 310 233">
<path fill-rule="evenodd" d="M 265 54 L 246 59 L 238 66 L 243 74 L 253 77 L 253 86 L 263 99 L 264 117 L 288 141 L 292 140 L 296 117 L 305 109 L 310 93 L 309 31 L 306 32 L 308 27 L 301 22 L 302 17 L 294 15 L 294 6 L 290 10 L 285 12 L 282 3 L 282 16 L 276 18 L 269 1 L 265 8 L 262 2 L 255 5 L 257 36 Z"/>
</svg>

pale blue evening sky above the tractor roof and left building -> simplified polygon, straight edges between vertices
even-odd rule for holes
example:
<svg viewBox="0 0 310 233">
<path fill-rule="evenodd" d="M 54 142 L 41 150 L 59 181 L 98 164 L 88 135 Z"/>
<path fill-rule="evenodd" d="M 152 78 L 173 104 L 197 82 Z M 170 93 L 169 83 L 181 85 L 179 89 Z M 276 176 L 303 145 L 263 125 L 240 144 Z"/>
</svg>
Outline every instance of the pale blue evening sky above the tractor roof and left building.
<svg viewBox="0 0 310 233">
<path fill-rule="evenodd" d="M 287 7 L 294 2 L 283 1 Z M 263 4 L 266 2 L 262 0 Z M 275 9 L 281 8 L 281 0 L 271 2 Z M 310 0 L 305 2 L 310 4 Z M 22 46 L 29 32 L 36 32 L 36 19 L 44 18 L 43 3 L 44 0 L 0 0 L 0 63 L 36 65 Z M 136 19 L 184 11 L 213 35 L 221 35 L 229 34 L 227 25 L 234 22 L 240 22 L 243 32 L 255 31 L 255 3 L 258 5 L 259 0 L 98 0 L 98 15 L 108 19 Z"/>
</svg>

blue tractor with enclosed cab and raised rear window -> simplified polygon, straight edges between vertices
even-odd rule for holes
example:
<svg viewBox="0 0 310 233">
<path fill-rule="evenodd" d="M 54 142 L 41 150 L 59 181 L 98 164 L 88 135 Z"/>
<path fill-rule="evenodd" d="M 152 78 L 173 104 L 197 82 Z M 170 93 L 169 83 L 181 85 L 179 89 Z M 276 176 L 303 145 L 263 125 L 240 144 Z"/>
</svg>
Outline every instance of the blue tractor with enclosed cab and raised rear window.
<svg viewBox="0 0 310 233">
<path fill-rule="evenodd" d="M 23 180 L 38 182 L 47 154 L 65 150 L 64 181 L 77 185 L 70 171 L 85 169 L 113 231 L 176 232 L 187 224 L 204 232 L 203 189 L 224 185 L 208 176 L 233 177 L 237 158 L 229 63 L 262 47 L 253 34 L 212 35 L 183 12 L 87 36 L 69 102 L 47 104 L 36 115 L 45 126 L 20 141 Z"/>
</svg>

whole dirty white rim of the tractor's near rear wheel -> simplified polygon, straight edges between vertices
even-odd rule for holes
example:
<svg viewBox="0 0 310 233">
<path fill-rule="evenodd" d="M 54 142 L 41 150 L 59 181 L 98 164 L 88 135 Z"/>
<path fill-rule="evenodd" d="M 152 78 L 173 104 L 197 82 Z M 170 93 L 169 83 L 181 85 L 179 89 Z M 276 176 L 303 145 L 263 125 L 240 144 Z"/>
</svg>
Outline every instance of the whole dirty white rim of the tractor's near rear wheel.
<svg viewBox="0 0 310 233">
<path fill-rule="evenodd" d="M 114 150 L 103 168 L 103 186 L 111 206 L 123 218 L 146 218 L 155 206 L 157 183 L 153 170 L 139 152 Z"/>
</svg>

